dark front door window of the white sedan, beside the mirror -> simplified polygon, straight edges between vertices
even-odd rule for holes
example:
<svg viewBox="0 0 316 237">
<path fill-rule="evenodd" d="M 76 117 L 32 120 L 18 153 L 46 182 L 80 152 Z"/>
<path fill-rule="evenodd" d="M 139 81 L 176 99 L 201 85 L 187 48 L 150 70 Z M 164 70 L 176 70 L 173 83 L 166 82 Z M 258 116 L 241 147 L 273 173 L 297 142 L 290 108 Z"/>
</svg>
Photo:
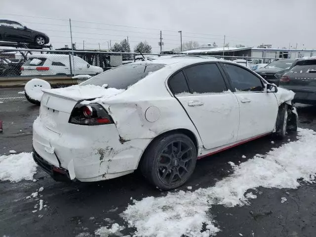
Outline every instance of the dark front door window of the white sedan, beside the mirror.
<svg viewBox="0 0 316 237">
<path fill-rule="evenodd" d="M 233 88 L 236 91 L 262 91 L 263 85 L 261 80 L 248 72 L 246 69 L 232 65 L 232 64 L 223 64 L 224 69 L 228 73 L 232 81 Z"/>
</svg>

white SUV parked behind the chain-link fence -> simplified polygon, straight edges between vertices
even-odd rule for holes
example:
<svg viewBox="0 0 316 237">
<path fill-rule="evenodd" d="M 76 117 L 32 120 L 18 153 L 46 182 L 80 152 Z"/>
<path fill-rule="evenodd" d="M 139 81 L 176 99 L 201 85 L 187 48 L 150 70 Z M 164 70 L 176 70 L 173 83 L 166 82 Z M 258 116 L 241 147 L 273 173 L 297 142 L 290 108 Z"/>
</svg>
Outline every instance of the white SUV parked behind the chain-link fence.
<svg viewBox="0 0 316 237">
<path fill-rule="evenodd" d="M 23 64 L 21 72 L 22 76 L 70 75 L 71 72 L 76 75 L 96 75 L 102 73 L 103 69 L 88 64 L 82 58 L 77 56 L 73 58 L 68 54 L 33 54 Z"/>
</svg>

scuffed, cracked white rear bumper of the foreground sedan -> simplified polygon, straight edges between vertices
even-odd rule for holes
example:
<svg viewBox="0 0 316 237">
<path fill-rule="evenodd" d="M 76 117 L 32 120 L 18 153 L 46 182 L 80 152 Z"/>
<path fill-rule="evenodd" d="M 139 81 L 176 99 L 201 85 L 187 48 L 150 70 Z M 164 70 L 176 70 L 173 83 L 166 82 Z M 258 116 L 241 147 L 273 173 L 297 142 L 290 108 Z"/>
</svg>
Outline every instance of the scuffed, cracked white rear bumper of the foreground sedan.
<svg viewBox="0 0 316 237">
<path fill-rule="evenodd" d="M 38 162 L 43 160 L 40 167 L 50 174 L 51 167 L 67 171 L 72 180 L 91 182 L 132 173 L 150 142 L 135 139 L 121 143 L 115 124 L 69 126 L 75 127 L 73 133 L 60 134 L 46 128 L 40 118 L 36 119 L 33 147 Z M 104 133 L 100 132 L 102 129 Z"/>
</svg>

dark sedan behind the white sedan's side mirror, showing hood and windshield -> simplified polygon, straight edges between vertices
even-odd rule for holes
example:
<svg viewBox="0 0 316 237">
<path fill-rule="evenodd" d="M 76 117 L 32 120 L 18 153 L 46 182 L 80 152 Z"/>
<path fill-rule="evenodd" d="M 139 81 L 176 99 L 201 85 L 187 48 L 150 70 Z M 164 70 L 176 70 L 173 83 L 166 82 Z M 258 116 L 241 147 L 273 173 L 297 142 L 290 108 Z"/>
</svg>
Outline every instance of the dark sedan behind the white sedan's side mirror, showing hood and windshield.
<svg viewBox="0 0 316 237">
<path fill-rule="evenodd" d="M 294 61 L 294 59 L 276 59 L 264 68 L 257 69 L 256 73 L 266 79 L 269 83 L 278 85 L 280 78 L 287 72 Z"/>
</svg>

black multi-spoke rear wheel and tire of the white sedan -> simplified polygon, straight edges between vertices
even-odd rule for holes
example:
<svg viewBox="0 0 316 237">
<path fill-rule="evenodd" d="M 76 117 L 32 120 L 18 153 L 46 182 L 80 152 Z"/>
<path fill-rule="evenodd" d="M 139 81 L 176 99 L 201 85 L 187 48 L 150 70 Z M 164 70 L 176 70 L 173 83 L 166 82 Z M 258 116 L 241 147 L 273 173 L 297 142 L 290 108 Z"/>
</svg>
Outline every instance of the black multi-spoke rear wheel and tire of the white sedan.
<svg viewBox="0 0 316 237">
<path fill-rule="evenodd" d="M 197 149 L 193 141 L 182 133 L 169 133 L 146 149 L 140 170 L 155 187 L 170 190 L 188 181 L 196 162 Z"/>
</svg>

